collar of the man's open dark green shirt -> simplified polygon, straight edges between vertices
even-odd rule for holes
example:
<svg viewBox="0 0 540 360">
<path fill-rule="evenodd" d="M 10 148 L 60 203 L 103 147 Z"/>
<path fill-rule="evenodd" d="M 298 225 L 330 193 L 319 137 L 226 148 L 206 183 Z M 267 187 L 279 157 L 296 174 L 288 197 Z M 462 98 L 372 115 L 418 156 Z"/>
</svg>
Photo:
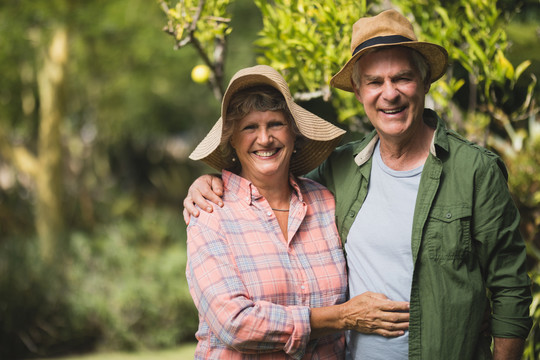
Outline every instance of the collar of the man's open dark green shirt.
<svg viewBox="0 0 540 360">
<path fill-rule="evenodd" d="M 429 147 L 429 152 L 431 153 L 431 155 L 437 157 L 438 147 L 448 152 L 448 137 L 446 134 L 446 126 L 444 125 L 442 119 L 439 117 L 439 115 L 437 115 L 435 111 L 431 109 L 424 109 L 423 118 L 424 122 L 426 122 L 430 126 L 436 127 L 433 138 L 431 139 L 431 145 Z M 358 152 L 355 153 L 356 156 L 354 157 L 354 161 L 356 162 L 356 165 L 361 166 L 371 158 L 371 155 L 373 155 L 373 151 L 375 150 L 375 145 L 377 145 L 378 140 L 379 135 L 377 135 L 377 132 L 374 130 L 364 139 L 364 141 L 362 141 L 362 144 L 365 145 L 360 146 Z"/>
</svg>

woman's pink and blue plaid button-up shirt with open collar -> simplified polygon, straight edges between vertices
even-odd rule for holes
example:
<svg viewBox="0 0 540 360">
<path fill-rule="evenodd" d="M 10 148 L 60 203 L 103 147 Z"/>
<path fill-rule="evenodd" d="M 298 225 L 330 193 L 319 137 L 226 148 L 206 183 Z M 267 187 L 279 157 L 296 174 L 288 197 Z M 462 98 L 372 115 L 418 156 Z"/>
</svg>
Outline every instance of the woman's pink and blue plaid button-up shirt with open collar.
<svg viewBox="0 0 540 360">
<path fill-rule="evenodd" d="M 288 239 L 248 180 L 223 171 L 223 208 L 188 226 L 186 276 L 199 310 L 196 359 L 341 359 L 343 333 L 309 340 L 310 308 L 343 303 L 345 258 L 334 198 L 296 182 Z"/>
</svg>

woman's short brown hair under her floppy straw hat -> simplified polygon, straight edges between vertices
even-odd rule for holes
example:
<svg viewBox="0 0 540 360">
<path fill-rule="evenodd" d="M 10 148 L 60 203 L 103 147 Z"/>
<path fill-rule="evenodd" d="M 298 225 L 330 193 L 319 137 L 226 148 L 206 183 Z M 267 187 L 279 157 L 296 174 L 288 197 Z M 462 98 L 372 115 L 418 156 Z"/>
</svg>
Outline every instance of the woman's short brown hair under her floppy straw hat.
<svg viewBox="0 0 540 360">
<path fill-rule="evenodd" d="M 224 157 L 233 157 L 234 155 L 234 149 L 231 146 L 230 139 L 236 124 L 254 111 L 280 111 L 284 115 L 287 124 L 291 126 L 297 142 L 302 138 L 302 134 L 298 130 L 281 92 L 270 85 L 252 86 L 234 93 L 227 107 L 225 113 L 226 121 L 223 123 L 223 136 L 221 137 L 220 144 Z M 237 166 L 240 166 L 240 164 L 237 164 Z M 234 171 L 235 169 L 229 170 Z"/>
</svg>

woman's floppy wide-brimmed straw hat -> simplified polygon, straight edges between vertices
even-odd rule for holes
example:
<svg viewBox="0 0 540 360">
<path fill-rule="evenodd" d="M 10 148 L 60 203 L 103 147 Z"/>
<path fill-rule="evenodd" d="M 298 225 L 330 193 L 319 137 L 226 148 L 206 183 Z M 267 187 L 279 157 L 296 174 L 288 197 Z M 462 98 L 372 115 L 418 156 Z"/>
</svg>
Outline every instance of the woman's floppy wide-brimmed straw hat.
<svg viewBox="0 0 540 360">
<path fill-rule="evenodd" d="M 257 85 L 270 85 L 283 94 L 298 130 L 305 137 L 302 147 L 296 149 L 296 153 L 291 158 L 290 171 L 295 175 L 303 175 L 319 166 L 339 144 L 345 130 L 297 105 L 293 101 L 285 79 L 274 68 L 267 65 L 245 68 L 233 76 L 223 96 L 221 117 L 189 155 L 189 158 L 202 160 L 219 171 L 230 169 L 235 165 L 232 158 L 225 158 L 220 146 L 223 123 L 227 121 L 227 107 L 236 92 Z"/>
</svg>

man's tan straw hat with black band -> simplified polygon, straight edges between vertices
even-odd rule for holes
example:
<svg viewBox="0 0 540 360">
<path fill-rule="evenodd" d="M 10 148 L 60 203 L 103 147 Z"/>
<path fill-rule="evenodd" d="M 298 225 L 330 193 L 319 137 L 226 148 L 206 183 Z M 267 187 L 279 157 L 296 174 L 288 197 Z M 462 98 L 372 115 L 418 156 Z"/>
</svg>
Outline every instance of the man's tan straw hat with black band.
<svg viewBox="0 0 540 360">
<path fill-rule="evenodd" d="M 373 17 L 359 19 L 353 25 L 352 57 L 330 80 L 330 85 L 345 91 L 354 91 L 351 77 L 356 61 L 368 50 L 385 46 L 406 46 L 421 53 L 431 69 L 431 82 L 446 72 L 448 53 L 442 46 L 418 41 L 412 24 L 395 10 L 386 10 Z"/>
</svg>

